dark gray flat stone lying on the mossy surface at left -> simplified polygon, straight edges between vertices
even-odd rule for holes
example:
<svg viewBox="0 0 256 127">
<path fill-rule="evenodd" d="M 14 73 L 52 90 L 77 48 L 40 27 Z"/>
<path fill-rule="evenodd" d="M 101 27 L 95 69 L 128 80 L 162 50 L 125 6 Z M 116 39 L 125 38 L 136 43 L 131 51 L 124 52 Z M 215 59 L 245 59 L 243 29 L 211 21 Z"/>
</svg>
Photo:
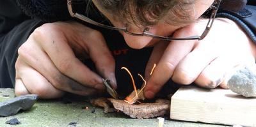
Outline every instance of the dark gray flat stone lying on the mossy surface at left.
<svg viewBox="0 0 256 127">
<path fill-rule="evenodd" d="M 21 109 L 28 110 L 35 104 L 37 99 L 38 96 L 36 94 L 28 94 L 3 101 L 0 103 L 0 116 L 12 116 Z"/>
</svg>

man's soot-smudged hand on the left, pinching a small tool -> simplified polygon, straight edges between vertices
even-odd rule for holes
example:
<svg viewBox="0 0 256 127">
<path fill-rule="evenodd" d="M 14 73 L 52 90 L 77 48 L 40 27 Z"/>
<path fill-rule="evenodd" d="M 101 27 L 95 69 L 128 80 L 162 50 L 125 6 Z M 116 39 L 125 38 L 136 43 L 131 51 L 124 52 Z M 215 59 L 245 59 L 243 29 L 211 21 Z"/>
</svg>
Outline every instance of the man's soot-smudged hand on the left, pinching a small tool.
<svg viewBox="0 0 256 127">
<path fill-rule="evenodd" d="M 115 61 L 99 31 L 76 22 L 44 24 L 18 50 L 15 94 L 58 98 L 65 92 L 90 95 L 105 87 L 102 77 L 116 87 Z M 77 57 L 90 57 L 100 75 Z"/>
</svg>

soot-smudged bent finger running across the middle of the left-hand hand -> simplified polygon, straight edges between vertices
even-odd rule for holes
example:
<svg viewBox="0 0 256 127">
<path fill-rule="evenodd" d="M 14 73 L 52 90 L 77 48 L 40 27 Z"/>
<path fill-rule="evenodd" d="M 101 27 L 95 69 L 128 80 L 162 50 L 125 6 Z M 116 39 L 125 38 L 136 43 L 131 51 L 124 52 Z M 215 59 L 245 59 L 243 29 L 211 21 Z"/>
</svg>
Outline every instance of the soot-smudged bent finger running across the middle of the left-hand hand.
<svg viewBox="0 0 256 127">
<path fill-rule="evenodd" d="M 43 77 L 51 82 L 52 86 L 60 89 L 61 91 L 67 91 L 84 96 L 96 93 L 95 89 L 82 86 L 75 80 L 72 80 L 72 78 L 63 75 L 56 66 L 54 66 L 47 54 L 45 54 L 45 52 L 43 52 L 36 43 L 32 43 L 30 41 L 27 41 L 19 48 L 19 57 L 22 61 L 26 61 L 26 64 L 31 66 L 31 68 L 40 72 Z M 17 59 L 17 61 L 19 61 L 19 59 Z"/>
</svg>

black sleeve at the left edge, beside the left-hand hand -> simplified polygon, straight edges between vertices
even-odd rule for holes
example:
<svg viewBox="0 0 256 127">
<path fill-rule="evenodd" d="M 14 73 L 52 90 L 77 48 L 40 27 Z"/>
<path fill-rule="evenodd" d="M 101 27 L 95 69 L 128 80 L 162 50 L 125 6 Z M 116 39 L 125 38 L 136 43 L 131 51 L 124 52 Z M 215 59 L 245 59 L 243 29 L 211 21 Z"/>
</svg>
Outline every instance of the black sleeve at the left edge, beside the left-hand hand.
<svg viewBox="0 0 256 127">
<path fill-rule="evenodd" d="M 44 22 L 26 20 L 0 37 L 0 87 L 14 87 L 17 50 L 33 30 Z"/>
</svg>

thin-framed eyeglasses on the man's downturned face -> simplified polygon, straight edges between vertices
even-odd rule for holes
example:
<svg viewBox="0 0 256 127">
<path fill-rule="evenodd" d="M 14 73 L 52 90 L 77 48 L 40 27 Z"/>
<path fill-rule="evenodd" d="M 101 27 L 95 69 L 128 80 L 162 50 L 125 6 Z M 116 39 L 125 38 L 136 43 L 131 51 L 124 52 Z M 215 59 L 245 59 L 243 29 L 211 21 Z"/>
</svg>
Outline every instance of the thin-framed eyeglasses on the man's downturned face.
<svg viewBox="0 0 256 127">
<path fill-rule="evenodd" d="M 77 1 L 77 0 L 73 0 L 73 2 L 75 2 L 75 1 Z M 220 7 L 220 3 L 221 3 L 221 0 L 216 0 L 216 1 L 214 1 L 214 4 L 212 4 L 212 6 L 211 6 L 212 7 L 211 16 L 209 17 L 209 21 L 207 22 L 207 26 L 205 27 L 205 30 L 204 30 L 204 32 L 202 33 L 201 36 L 189 36 L 189 37 L 186 37 L 186 38 L 172 38 L 172 37 L 168 37 L 168 36 L 159 36 L 159 35 L 156 35 L 156 34 L 149 33 L 148 28 L 145 28 L 142 33 L 132 33 L 128 30 L 127 26 L 125 26 L 125 27 L 115 27 L 115 26 L 108 26 L 106 24 L 95 22 L 94 20 L 89 19 L 88 17 L 86 17 L 84 15 L 73 12 L 73 10 L 72 10 L 72 0 L 67 0 L 67 6 L 68 6 L 68 11 L 69 11 L 70 15 L 72 17 L 76 17 L 77 19 L 83 20 L 84 22 L 87 22 L 89 24 L 93 24 L 95 26 L 103 27 L 105 29 L 123 31 L 123 32 L 125 32 L 127 34 L 131 34 L 133 36 L 148 36 L 148 37 L 151 37 L 151 38 L 157 38 L 157 39 L 166 40 L 166 41 L 172 41 L 172 40 L 203 40 L 205 38 L 205 36 L 209 33 L 209 31 L 212 27 L 212 24 L 213 24 L 214 19 L 216 17 L 218 8 Z"/>
</svg>

